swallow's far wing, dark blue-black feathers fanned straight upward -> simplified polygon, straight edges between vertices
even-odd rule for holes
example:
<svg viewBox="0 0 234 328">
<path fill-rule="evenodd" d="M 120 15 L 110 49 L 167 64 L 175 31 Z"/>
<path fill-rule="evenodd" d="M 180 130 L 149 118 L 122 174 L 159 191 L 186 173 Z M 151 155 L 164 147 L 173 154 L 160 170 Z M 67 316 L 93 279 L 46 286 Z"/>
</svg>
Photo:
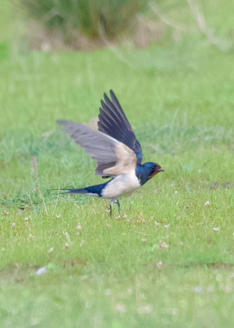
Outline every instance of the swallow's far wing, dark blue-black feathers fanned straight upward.
<svg viewBox="0 0 234 328">
<path fill-rule="evenodd" d="M 142 161 L 141 145 L 112 90 L 110 90 L 110 95 L 111 100 L 105 93 L 105 102 L 101 100 L 102 108 L 99 108 L 98 128 L 131 148 L 136 154 L 137 164 L 140 164 Z"/>
</svg>

